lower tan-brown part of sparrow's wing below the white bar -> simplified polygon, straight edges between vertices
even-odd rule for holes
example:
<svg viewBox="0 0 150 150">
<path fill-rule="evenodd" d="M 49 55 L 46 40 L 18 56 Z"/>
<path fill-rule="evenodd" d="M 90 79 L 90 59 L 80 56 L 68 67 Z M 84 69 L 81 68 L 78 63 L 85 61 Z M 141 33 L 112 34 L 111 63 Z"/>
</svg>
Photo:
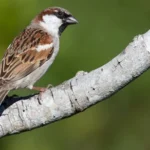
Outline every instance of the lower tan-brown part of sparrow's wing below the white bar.
<svg viewBox="0 0 150 150">
<path fill-rule="evenodd" d="M 3 75 L 3 78 L 16 81 L 29 75 L 48 60 L 49 55 L 52 55 L 53 53 L 53 48 L 41 52 L 35 52 L 36 51 L 29 50 L 18 55 L 18 57 L 16 57 L 17 63 L 7 70 L 5 75 Z M 26 57 L 23 57 L 24 55 L 26 55 Z"/>
</svg>

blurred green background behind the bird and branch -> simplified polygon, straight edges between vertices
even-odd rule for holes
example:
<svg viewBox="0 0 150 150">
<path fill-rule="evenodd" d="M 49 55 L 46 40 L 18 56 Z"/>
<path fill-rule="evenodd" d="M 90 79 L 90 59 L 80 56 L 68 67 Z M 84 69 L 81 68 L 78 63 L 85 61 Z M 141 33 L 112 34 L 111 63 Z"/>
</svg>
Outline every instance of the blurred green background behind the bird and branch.
<svg viewBox="0 0 150 150">
<path fill-rule="evenodd" d="M 149 0 L 0 0 L 1 58 L 13 38 L 49 6 L 70 10 L 80 23 L 62 34 L 60 53 L 39 86 L 58 85 L 79 70 L 105 64 L 150 28 Z M 147 71 L 83 113 L 0 139 L 0 150 L 149 150 L 149 93 Z"/>
</svg>

